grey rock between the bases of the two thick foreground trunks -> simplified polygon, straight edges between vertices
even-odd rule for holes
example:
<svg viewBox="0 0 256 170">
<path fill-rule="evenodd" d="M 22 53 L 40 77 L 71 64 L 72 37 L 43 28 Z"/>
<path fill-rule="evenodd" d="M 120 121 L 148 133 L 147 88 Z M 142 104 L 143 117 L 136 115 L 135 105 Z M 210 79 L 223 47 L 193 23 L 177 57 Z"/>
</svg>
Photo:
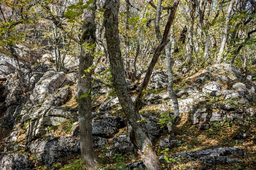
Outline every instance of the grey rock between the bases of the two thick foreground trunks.
<svg viewBox="0 0 256 170">
<path fill-rule="evenodd" d="M 125 153 L 134 150 L 134 145 L 131 142 L 128 134 L 121 134 L 111 140 L 112 149 L 115 153 Z"/>
</svg>

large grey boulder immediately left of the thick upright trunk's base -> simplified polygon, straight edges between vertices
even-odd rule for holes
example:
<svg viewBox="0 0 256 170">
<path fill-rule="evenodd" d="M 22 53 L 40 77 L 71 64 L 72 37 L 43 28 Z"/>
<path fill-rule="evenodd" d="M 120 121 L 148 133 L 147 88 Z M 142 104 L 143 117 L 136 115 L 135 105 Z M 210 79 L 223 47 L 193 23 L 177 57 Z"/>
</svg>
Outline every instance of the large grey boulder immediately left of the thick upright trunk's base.
<svg viewBox="0 0 256 170">
<path fill-rule="evenodd" d="M 79 139 L 67 136 L 37 139 L 31 142 L 28 149 L 43 164 L 53 164 L 59 158 L 81 152 Z"/>
</svg>

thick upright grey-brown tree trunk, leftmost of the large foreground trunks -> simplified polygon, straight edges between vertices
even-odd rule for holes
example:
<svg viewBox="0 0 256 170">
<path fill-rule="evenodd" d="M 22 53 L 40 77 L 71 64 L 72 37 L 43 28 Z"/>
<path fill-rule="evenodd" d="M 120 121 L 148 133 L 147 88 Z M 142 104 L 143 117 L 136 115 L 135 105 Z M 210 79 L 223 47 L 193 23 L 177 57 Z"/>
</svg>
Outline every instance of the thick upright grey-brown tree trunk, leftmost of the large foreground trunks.
<svg viewBox="0 0 256 170">
<path fill-rule="evenodd" d="M 86 1 L 86 0 L 85 0 Z M 86 3 L 86 2 L 85 2 Z M 95 1 L 91 4 L 91 8 L 95 8 Z M 90 43 L 93 45 L 96 41 L 95 32 L 95 12 L 84 9 L 82 24 L 83 35 L 81 44 Z M 92 135 L 92 99 L 91 99 L 91 73 L 85 73 L 84 70 L 93 65 L 93 49 L 86 51 L 87 46 L 81 45 L 81 55 L 79 59 L 79 80 L 78 80 L 78 111 L 79 111 L 79 130 L 81 156 L 89 170 L 95 170 L 99 166 L 93 147 Z M 84 94 L 87 94 L 84 95 Z M 83 96 L 82 96 L 83 95 Z"/>
</svg>

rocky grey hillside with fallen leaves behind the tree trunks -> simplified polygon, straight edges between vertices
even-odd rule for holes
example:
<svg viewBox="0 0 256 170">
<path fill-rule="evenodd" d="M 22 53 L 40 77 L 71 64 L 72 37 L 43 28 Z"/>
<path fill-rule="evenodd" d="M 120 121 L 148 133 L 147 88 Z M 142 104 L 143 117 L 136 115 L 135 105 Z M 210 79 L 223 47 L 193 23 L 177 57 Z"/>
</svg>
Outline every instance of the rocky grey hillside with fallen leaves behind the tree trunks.
<svg viewBox="0 0 256 170">
<path fill-rule="evenodd" d="M 17 79 L 12 59 L 1 57 L 0 79 L 4 81 L 0 85 L 0 115 L 4 133 L 0 140 L 0 169 L 38 169 L 38 165 L 58 169 L 81 152 L 76 65 L 56 72 L 50 57 L 46 57 L 49 55 L 44 56 L 42 65 L 29 67 L 20 62 L 23 83 Z M 95 72 L 104 71 L 104 66 L 98 66 Z M 174 135 L 158 125 L 164 117 L 161 115 L 171 115 L 173 110 L 165 71 L 153 72 L 140 111 L 164 166 L 221 169 L 222 164 L 228 164 L 224 169 L 232 169 L 245 164 L 253 169 L 256 162 L 250 160 L 255 159 L 252 153 L 256 151 L 255 75 L 244 81 L 242 71 L 228 64 L 211 65 L 197 73 L 182 68 L 175 74 L 181 115 Z M 140 81 L 144 76 L 145 71 L 138 71 Z M 134 96 L 140 82 L 127 82 Z M 98 82 L 93 84 L 96 152 L 109 167 L 122 162 L 122 167 L 132 163 L 127 169 L 145 169 L 129 137 L 131 126 L 118 98 L 107 96 L 109 91 Z M 117 161 L 117 156 L 122 158 Z M 61 165 L 54 166 L 58 162 Z"/>
</svg>

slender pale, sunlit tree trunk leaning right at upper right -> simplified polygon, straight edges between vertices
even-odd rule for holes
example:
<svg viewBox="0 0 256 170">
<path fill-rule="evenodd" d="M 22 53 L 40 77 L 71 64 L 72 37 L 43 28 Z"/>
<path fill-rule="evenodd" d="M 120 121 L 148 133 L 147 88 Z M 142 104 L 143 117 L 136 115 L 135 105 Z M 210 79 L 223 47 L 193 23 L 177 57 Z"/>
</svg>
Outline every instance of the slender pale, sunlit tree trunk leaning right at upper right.
<svg viewBox="0 0 256 170">
<path fill-rule="evenodd" d="M 224 35 L 223 35 L 223 39 L 222 39 L 222 42 L 221 42 L 221 48 L 219 50 L 218 57 L 217 57 L 217 62 L 218 63 L 221 63 L 221 57 L 222 57 L 222 54 L 224 52 L 224 48 L 225 48 L 225 45 L 226 45 L 226 42 L 227 42 L 228 23 L 230 21 L 230 14 L 232 12 L 234 3 L 235 3 L 235 0 L 231 0 L 230 6 L 229 6 L 228 11 L 227 11 L 226 23 L 225 23 L 225 27 L 224 27 Z"/>
</svg>

